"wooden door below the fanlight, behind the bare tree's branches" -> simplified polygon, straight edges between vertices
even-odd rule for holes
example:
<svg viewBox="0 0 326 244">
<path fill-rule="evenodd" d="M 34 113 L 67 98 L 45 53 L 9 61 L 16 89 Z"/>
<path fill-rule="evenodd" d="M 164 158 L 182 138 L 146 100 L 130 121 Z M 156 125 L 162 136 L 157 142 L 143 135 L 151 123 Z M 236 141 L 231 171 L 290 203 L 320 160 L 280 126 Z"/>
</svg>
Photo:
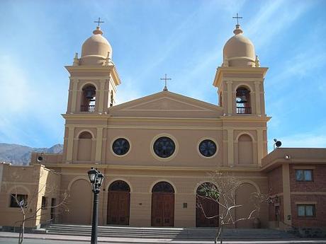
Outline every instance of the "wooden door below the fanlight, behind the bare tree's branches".
<svg viewBox="0 0 326 244">
<path fill-rule="evenodd" d="M 218 203 L 205 197 L 197 196 L 197 206 L 201 204 L 206 216 L 215 216 L 218 214 Z M 218 217 L 207 219 L 200 208 L 196 208 L 196 226 L 197 227 L 217 227 Z"/>
</svg>

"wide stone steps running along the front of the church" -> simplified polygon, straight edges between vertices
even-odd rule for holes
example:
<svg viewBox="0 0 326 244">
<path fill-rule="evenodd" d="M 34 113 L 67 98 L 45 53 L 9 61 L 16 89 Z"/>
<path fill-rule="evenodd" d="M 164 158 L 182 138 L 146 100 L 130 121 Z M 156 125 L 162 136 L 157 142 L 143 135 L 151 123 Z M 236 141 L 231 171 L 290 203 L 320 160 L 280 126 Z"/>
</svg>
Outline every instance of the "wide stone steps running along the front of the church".
<svg viewBox="0 0 326 244">
<path fill-rule="evenodd" d="M 54 224 L 47 227 L 47 233 L 69 236 L 90 236 L 91 226 Z M 99 226 L 98 236 L 111 238 L 154 238 L 154 239 L 213 239 L 216 228 L 136 228 L 129 226 Z M 230 229 L 225 228 L 227 240 L 285 239 L 291 234 L 272 229 Z"/>
</svg>

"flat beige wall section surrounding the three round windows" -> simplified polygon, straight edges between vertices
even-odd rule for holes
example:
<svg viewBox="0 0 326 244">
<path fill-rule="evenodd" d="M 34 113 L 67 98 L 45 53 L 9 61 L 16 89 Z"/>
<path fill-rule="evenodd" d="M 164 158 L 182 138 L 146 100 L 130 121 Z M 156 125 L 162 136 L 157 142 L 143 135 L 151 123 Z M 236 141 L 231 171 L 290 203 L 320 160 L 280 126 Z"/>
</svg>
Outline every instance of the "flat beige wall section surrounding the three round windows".
<svg viewBox="0 0 326 244">
<path fill-rule="evenodd" d="M 152 143 L 159 135 L 173 136 L 176 139 L 176 152 L 171 160 L 160 160 L 154 156 Z M 115 156 L 111 151 L 112 143 L 124 136 L 130 140 L 130 153 L 123 157 Z M 110 129 L 106 138 L 106 161 L 109 164 L 215 167 L 223 163 L 222 131 L 211 130 L 208 133 L 201 129 Z M 218 153 L 212 158 L 203 158 L 198 151 L 198 143 L 206 138 L 217 141 L 219 146 Z"/>
</svg>

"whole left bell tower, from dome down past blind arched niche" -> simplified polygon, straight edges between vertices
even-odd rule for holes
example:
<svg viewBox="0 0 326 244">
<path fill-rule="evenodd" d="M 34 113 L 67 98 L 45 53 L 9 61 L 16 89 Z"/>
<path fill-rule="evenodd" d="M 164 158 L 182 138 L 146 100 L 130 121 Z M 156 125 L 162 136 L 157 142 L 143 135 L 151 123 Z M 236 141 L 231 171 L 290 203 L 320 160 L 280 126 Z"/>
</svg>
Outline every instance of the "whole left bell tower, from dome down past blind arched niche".
<svg viewBox="0 0 326 244">
<path fill-rule="evenodd" d="M 101 163 L 103 125 L 116 103 L 120 78 L 112 61 L 112 47 L 99 26 L 74 56 L 69 71 L 69 95 L 64 133 L 65 163 Z M 77 125 L 78 124 L 78 125 Z"/>
</svg>

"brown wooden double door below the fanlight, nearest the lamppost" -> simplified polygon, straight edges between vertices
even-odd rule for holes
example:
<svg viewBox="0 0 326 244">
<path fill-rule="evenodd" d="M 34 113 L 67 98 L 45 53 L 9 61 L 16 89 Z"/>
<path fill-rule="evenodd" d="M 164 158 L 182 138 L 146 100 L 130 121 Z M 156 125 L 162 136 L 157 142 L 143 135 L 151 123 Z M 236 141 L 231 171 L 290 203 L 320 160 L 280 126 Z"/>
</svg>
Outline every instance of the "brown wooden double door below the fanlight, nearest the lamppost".
<svg viewBox="0 0 326 244">
<path fill-rule="evenodd" d="M 128 225 L 130 192 L 108 192 L 108 224 Z"/>
</svg>

